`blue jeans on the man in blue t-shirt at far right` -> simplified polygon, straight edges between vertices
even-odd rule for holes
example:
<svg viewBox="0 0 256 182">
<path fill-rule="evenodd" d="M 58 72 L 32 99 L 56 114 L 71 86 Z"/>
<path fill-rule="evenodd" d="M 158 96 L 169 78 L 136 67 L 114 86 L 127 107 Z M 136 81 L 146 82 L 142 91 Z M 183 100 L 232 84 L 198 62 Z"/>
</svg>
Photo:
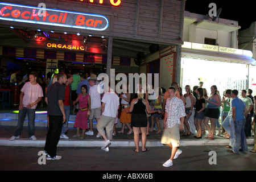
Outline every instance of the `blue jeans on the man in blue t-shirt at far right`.
<svg viewBox="0 0 256 182">
<path fill-rule="evenodd" d="M 233 146 L 233 151 L 237 154 L 239 153 L 240 143 L 241 150 L 248 151 L 247 142 L 245 138 L 245 119 L 234 121 L 234 129 L 235 129 L 235 142 Z"/>
</svg>

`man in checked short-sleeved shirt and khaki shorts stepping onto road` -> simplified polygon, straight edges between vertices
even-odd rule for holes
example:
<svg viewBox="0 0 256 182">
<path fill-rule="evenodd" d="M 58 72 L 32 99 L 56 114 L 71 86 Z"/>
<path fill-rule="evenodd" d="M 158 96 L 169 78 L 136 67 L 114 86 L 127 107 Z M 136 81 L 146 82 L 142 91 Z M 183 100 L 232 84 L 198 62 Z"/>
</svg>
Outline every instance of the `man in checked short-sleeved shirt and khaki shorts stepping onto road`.
<svg viewBox="0 0 256 182">
<path fill-rule="evenodd" d="M 170 148 L 171 157 L 163 166 L 172 166 L 172 160 L 176 159 L 182 151 L 180 146 L 180 130 L 183 130 L 184 118 L 186 116 L 185 106 L 180 98 L 176 97 L 176 88 L 171 86 L 168 89 L 169 98 L 166 101 L 166 111 L 164 113 L 164 133 L 161 139 L 161 143 L 166 144 Z"/>
</svg>

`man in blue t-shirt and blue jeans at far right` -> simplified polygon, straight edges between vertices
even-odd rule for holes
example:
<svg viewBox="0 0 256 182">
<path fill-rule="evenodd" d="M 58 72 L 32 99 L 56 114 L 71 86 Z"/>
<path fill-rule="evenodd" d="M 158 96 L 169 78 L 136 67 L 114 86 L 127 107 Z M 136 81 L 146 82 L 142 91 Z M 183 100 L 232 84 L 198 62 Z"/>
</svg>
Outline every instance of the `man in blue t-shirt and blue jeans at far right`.
<svg viewBox="0 0 256 182">
<path fill-rule="evenodd" d="M 232 100 L 232 117 L 234 119 L 234 144 L 232 150 L 228 150 L 228 152 L 239 154 L 240 143 L 241 150 L 248 151 L 247 142 L 245 138 L 245 117 L 247 115 L 247 109 L 245 106 L 245 102 L 243 102 L 240 98 L 237 97 L 238 91 L 232 90 L 231 97 Z"/>
</svg>

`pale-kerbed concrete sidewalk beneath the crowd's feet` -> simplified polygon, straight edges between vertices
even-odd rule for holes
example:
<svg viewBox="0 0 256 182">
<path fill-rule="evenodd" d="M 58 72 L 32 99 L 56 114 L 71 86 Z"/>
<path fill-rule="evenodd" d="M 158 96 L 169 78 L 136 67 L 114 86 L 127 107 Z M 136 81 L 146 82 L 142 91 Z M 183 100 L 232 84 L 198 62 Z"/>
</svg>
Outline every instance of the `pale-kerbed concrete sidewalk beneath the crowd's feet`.
<svg viewBox="0 0 256 182">
<path fill-rule="evenodd" d="M 27 147 L 43 147 L 46 142 L 47 127 L 36 127 L 35 136 L 37 140 L 30 140 L 27 137 L 27 127 L 24 126 L 22 134 L 19 139 L 10 141 L 9 138 L 13 136 L 16 126 L 0 126 L 0 146 L 27 146 Z M 117 129 L 119 131 L 119 129 Z M 134 147 L 133 134 L 127 135 L 128 130 L 125 130 L 124 134 L 116 134 L 113 136 L 112 147 Z M 81 132 L 80 132 L 81 134 Z M 85 139 L 73 138 L 76 135 L 75 128 L 69 128 L 69 139 L 60 139 L 59 147 L 101 147 L 104 144 L 104 140 L 97 138 L 97 131 L 94 130 L 94 135 L 86 135 Z M 229 144 L 229 139 L 223 137 L 214 136 L 214 140 L 208 140 L 205 137 L 202 139 L 195 139 L 193 135 L 189 137 L 182 136 L 180 133 L 180 146 L 224 146 Z M 151 133 L 147 137 L 147 147 L 163 146 L 160 142 L 162 134 Z M 247 139 L 247 144 L 252 145 L 254 138 Z"/>
</svg>

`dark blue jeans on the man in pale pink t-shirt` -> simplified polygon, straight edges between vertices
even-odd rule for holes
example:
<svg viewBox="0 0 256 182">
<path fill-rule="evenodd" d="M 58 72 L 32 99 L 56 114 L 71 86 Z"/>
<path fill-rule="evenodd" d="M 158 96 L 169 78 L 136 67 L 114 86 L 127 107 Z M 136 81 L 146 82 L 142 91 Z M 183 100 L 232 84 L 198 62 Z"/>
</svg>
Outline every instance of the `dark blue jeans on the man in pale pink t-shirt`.
<svg viewBox="0 0 256 182">
<path fill-rule="evenodd" d="M 35 135 L 35 109 L 23 107 L 22 110 L 19 110 L 18 126 L 14 132 L 14 137 L 18 137 L 21 134 L 26 114 L 28 118 L 28 138 Z"/>
</svg>

